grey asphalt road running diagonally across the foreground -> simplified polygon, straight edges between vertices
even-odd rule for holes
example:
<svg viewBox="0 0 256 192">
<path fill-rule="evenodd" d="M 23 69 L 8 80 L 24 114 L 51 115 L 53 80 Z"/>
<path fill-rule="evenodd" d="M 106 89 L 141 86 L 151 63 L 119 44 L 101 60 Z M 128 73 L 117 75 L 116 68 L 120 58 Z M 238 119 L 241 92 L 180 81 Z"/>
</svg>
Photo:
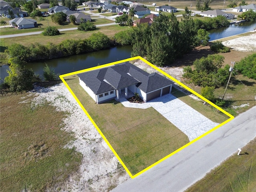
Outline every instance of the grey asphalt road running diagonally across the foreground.
<svg viewBox="0 0 256 192">
<path fill-rule="evenodd" d="M 112 192 L 182 192 L 255 136 L 256 106 Z"/>
</svg>

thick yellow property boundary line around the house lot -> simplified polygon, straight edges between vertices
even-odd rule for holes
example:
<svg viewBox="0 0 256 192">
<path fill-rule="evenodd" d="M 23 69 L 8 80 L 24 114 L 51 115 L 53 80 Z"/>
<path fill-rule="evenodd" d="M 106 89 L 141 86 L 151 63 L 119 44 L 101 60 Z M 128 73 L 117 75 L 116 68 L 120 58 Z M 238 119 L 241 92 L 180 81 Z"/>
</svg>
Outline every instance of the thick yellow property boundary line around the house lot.
<svg viewBox="0 0 256 192">
<path fill-rule="evenodd" d="M 128 170 L 128 168 L 126 167 L 126 165 L 124 164 L 124 162 L 121 160 L 121 158 L 118 156 L 118 154 L 116 153 L 116 151 L 114 150 L 114 148 L 111 146 L 111 144 L 108 142 L 108 140 L 106 139 L 106 137 L 104 136 L 104 134 L 101 132 L 101 130 L 98 128 L 98 126 L 96 125 L 96 123 L 94 122 L 94 120 L 91 118 L 91 116 L 88 114 L 88 112 L 86 111 L 86 109 L 84 108 L 84 106 L 81 104 L 81 102 L 78 100 L 78 98 L 76 97 L 76 95 L 74 94 L 74 92 L 71 90 L 71 88 L 68 86 L 68 84 L 66 83 L 66 81 L 64 80 L 64 77 L 66 76 L 71 76 L 71 75 L 75 75 L 78 73 L 83 73 L 83 72 L 87 72 L 90 70 L 96 70 L 96 69 L 100 69 L 100 68 L 105 68 L 108 66 L 112 66 L 115 64 L 119 64 L 119 63 L 123 63 L 123 62 L 128 62 L 131 60 L 136 60 L 136 59 L 140 59 L 143 62 L 145 62 L 146 64 L 148 64 L 149 66 L 151 66 L 152 68 L 158 70 L 159 72 L 161 72 L 162 74 L 164 74 L 165 76 L 167 76 L 168 78 L 170 78 L 172 81 L 176 82 L 177 84 L 179 84 L 180 86 L 182 86 L 183 88 L 185 88 L 186 90 L 192 92 L 192 94 L 198 96 L 199 98 L 201 98 L 202 100 L 206 101 L 208 104 L 212 105 L 214 108 L 220 110 L 221 112 L 223 112 L 224 114 L 226 114 L 227 116 L 229 116 L 230 118 L 224 122 L 222 122 L 221 124 L 219 124 L 218 126 L 212 128 L 211 130 L 209 130 L 208 132 L 202 134 L 201 136 L 199 136 L 198 138 L 190 141 L 188 144 L 182 146 L 181 148 L 177 149 L 176 151 L 172 152 L 171 154 L 169 154 L 168 156 L 158 160 L 157 162 L 155 162 L 154 164 L 150 165 L 149 167 L 145 168 L 144 170 L 138 172 L 135 175 L 132 175 L 131 172 Z M 60 75 L 60 79 L 62 80 L 62 82 L 65 84 L 65 86 L 68 88 L 68 90 L 70 91 L 70 93 L 72 94 L 72 96 L 75 98 L 76 102 L 78 102 L 78 104 L 80 105 L 80 107 L 82 108 L 82 110 L 85 112 L 85 114 L 88 116 L 88 118 L 90 119 L 90 121 L 92 122 L 92 124 L 95 126 L 95 128 L 98 130 L 98 132 L 100 133 L 100 135 L 102 136 L 102 138 L 105 140 L 105 142 L 108 144 L 109 148 L 112 150 L 112 152 L 115 154 L 115 156 L 118 158 L 119 162 L 122 164 L 122 166 L 124 167 L 124 169 L 127 171 L 127 173 L 130 175 L 131 178 L 135 178 L 136 176 L 146 172 L 147 170 L 149 170 L 150 168 L 154 167 L 155 165 L 159 164 L 160 162 L 166 160 L 167 158 L 169 158 L 170 156 L 176 154 L 177 152 L 179 152 L 180 150 L 186 148 L 187 146 L 191 145 L 192 143 L 196 142 L 197 140 L 201 139 L 202 137 L 206 136 L 207 134 L 213 132 L 214 130 L 218 129 L 219 127 L 221 127 L 222 125 L 226 124 L 227 122 L 231 121 L 232 119 L 234 119 L 234 116 L 232 116 L 231 114 L 229 114 L 228 112 L 226 112 L 225 110 L 223 110 L 222 108 L 216 106 L 214 103 L 210 102 L 209 100 L 207 100 L 206 98 L 204 98 L 202 95 L 198 94 L 197 92 L 193 91 L 192 89 L 190 89 L 188 86 L 184 85 L 183 83 L 179 82 L 178 80 L 176 80 L 175 78 L 173 78 L 172 76 L 170 76 L 169 74 L 167 74 L 166 72 L 164 72 L 163 70 L 159 69 L 158 67 L 154 66 L 153 64 L 151 64 L 150 62 L 148 62 L 147 60 L 145 60 L 144 58 L 137 56 L 137 57 L 132 57 L 132 58 L 128 58 L 128 59 L 124 59 L 124 60 L 120 60 L 120 61 L 116 61 L 116 62 L 112 62 L 112 63 L 108 63 L 108 64 L 104 64 L 101 66 L 96 66 L 96 67 L 92 67 L 92 68 L 88 68 L 88 69 L 84 69 L 84 70 L 79 70 L 76 72 L 72 72 L 72 73 L 68 73 L 68 74 L 63 74 Z"/>
</svg>

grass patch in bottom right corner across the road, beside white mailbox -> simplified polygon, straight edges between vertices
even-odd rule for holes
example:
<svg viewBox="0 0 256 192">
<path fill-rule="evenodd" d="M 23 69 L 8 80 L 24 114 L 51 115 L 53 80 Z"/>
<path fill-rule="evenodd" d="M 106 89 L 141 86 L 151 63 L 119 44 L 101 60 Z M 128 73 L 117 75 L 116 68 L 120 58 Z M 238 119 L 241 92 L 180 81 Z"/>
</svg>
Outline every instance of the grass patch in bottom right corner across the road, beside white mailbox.
<svg viewBox="0 0 256 192">
<path fill-rule="evenodd" d="M 239 156 L 234 154 L 186 190 L 186 192 L 197 191 L 256 191 L 256 139 L 242 148 Z"/>
</svg>

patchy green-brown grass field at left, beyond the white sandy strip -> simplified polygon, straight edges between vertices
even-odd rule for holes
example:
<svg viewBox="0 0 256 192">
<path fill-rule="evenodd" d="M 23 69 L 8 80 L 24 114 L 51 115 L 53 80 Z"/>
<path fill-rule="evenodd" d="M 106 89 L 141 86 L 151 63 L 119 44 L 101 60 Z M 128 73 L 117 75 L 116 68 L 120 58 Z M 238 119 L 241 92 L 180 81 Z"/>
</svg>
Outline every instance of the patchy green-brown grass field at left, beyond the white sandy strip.
<svg viewBox="0 0 256 192">
<path fill-rule="evenodd" d="M 60 130 L 64 112 L 48 103 L 32 106 L 34 96 L 27 96 L 18 93 L 0 98 L 3 192 L 45 191 L 76 172 L 82 160 L 75 149 L 64 147 L 73 139 L 70 133 Z"/>
</svg>

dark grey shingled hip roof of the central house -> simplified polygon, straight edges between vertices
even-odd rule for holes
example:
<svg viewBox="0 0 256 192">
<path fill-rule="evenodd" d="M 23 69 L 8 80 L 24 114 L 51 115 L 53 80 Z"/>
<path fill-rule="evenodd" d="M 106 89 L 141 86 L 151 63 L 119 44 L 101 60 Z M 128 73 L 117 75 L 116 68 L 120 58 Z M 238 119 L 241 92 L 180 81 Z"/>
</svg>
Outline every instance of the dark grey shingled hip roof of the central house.
<svg viewBox="0 0 256 192">
<path fill-rule="evenodd" d="M 173 84 L 157 73 L 149 74 L 129 62 L 78 74 L 78 77 L 94 92 L 101 94 L 136 84 L 143 92 L 151 92 Z"/>
</svg>

